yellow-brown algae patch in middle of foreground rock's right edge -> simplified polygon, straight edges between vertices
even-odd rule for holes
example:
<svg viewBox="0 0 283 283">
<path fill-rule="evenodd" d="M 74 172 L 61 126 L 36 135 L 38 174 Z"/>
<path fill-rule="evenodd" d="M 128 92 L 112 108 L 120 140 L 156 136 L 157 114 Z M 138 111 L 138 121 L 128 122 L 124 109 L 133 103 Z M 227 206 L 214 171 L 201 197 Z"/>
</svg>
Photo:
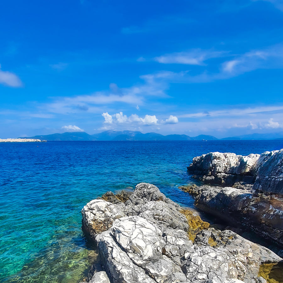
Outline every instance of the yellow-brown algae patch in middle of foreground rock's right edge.
<svg viewBox="0 0 283 283">
<path fill-rule="evenodd" d="M 190 209 L 181 209 L 180 210 L 181 214 L 184 214 L 186 216 L 186 219 L 189 224 L 189 239 L 194 242 L 196 235 L 199 231 L 203 229 L 208 229 L 209 223 L 203 221 L 199 215 L 196 215 L 193 213 L 192 210 Z"/>
</svg>

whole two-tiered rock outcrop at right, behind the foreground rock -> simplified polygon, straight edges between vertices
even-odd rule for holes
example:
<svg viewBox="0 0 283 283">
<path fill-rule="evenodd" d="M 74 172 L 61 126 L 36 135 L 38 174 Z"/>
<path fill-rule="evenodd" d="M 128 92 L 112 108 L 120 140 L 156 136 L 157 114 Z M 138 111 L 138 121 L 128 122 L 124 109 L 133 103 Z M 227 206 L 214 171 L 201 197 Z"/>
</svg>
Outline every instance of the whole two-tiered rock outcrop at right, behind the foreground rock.
<svg viewBox="0 0 283 283">
<path fill-rule="evenodd" d="M 180 187 L 198 208 L 239 222 L 283 245 L 283 149 L 248 156 L 208 153 L 188 167 L 197 179 L 219 186 Z"/>
</svg>

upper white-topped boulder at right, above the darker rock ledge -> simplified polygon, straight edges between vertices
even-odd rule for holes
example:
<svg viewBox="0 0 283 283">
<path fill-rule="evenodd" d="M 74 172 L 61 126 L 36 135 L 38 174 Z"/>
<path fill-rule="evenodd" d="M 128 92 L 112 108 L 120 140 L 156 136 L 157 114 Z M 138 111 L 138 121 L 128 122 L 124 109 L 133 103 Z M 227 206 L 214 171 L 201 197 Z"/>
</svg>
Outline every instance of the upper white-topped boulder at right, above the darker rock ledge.
<svg viewBox="0 0 283 283">
<path fill-rule="evenodd" d="M 283 195 L 283 149 L 248 156 L 211 152 L 194 157 L 187 169 L 206 184 L 245 182 L 257 191 Z"/>
</svg>

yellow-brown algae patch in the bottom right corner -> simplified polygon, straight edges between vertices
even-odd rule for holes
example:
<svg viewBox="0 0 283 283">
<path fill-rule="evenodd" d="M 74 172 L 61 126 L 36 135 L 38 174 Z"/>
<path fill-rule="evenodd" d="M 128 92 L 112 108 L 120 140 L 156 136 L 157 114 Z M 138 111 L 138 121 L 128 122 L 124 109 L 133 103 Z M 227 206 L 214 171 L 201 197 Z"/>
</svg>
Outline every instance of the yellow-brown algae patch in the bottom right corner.
<svg viewBox="0 0 283 283">
<path fill-rule="evenodd" d="M 258 277 L 268 283 L 283 283 L 283 263 L 264 263 L 259 266 Z"/>
</svg>

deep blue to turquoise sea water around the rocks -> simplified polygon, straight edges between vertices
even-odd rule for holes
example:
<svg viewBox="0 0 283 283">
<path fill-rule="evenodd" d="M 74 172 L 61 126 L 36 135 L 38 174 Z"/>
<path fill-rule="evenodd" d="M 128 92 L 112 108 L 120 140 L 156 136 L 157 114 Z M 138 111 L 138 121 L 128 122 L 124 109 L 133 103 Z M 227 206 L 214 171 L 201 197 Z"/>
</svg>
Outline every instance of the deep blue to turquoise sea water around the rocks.
<svg viewBox="0 0 283 283">
<path fill-rule="evenodd" d="M 153 183 L 193 207 L 178 186 L 208 152 L 248 155 L 283 141 L 0 143 L 0 282 L 80 282 L 95 256 L 81 208 L 106 191 Z"/>
</svg>

